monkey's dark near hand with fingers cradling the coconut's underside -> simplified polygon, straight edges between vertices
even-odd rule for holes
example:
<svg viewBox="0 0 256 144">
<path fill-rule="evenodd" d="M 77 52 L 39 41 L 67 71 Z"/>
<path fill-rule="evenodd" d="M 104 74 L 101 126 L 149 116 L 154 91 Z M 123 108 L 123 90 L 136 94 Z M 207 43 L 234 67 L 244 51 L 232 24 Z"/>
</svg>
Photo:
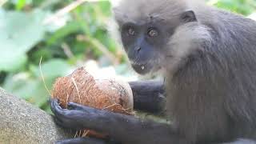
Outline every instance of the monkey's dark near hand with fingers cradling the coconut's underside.
<svg viewBox="0 0 256 144">
<path fill-rule="evenodd" d="M 50 109 L 59 126 L 72 130 L 89 129 L 109 132 L 110 128 L 113 129 L 115 126 L 115 122 L 120 121 L 113 112 L 82 106 L 74 102 L 68 102 L 67 108 L 63 109 L 59 106 L 58 99 L 50 99 Z"/>
</svg>

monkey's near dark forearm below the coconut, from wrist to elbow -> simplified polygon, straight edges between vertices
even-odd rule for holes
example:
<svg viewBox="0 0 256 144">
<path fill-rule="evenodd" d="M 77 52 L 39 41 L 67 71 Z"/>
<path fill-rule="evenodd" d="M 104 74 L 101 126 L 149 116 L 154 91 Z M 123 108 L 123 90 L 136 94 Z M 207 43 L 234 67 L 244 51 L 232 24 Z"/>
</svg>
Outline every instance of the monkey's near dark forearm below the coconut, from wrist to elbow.
<svg viewBox="0 0 256 144">
<path fill-rule="evenodd" d="M 102 114 L 100 114 L 102 113 Z M 91 129 L 106 132 L 110 138 L 122 143 L 169 143 L 172 131 L 167 124 L 161 124 L 134 118 L 133 116 L 116 114 L 109 111 L 98 111 Z M 97 116 L 98 115 L 98 116 Z M 156 137 L 156 135 L 158 135 Z M 176 143 L 177 140 L 174 142 Z"/>
</svg>

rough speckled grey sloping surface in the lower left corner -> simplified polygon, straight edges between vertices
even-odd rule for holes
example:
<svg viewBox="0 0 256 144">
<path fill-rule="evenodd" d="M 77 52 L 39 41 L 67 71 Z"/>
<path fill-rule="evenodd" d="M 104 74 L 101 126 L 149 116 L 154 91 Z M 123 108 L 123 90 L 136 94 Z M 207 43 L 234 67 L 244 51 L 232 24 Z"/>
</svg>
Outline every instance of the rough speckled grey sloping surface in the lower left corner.
<svg viewBox="0 0 256 144">
<path fill-rule="evenodd" d="M 54 143 L 72 137 L 49 114 L 0 88 L 0 143 Z"/>
</svg>

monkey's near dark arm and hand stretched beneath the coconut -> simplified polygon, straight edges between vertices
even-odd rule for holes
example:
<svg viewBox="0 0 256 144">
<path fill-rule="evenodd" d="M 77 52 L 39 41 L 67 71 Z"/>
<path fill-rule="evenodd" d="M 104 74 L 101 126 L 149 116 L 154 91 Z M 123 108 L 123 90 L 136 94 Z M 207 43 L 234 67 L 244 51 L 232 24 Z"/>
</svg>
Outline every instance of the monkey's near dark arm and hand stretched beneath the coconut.
<svg viewBox="0 0 256 144">
<path fill-rule="evenodd" d="M 170 126 L 151 121 L 143 121 L 133 116 L 98 110 L 75 103 L 62 109 L 58 100 L 50 100 L 50 107 L 58 125 L 69 129 L 90 129 L 110 134 L 110 138 L 122 143 L 179 143 Z"/>
</svg>

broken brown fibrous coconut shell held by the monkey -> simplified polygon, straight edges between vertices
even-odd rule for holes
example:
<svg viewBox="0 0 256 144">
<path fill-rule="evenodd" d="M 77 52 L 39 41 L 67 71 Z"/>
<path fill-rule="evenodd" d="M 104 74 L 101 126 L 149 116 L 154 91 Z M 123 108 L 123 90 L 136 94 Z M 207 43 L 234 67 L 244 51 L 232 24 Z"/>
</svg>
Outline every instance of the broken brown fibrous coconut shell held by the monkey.
<svg viewBox="0 0 256 144">
<path fill-rule="evenodd" d="M 127 82 L 94 79 L 83 67 L 66 77 L 58 78 L 53 87 L 52 97 L 58 98 L 63 108 L 66 108 L 67 102 L 76 102 L 101 110 L 133 114 L 133 94 Z M 98 138 L 106 136 L 91 130 L 88 135 Z"/>
</svg>

